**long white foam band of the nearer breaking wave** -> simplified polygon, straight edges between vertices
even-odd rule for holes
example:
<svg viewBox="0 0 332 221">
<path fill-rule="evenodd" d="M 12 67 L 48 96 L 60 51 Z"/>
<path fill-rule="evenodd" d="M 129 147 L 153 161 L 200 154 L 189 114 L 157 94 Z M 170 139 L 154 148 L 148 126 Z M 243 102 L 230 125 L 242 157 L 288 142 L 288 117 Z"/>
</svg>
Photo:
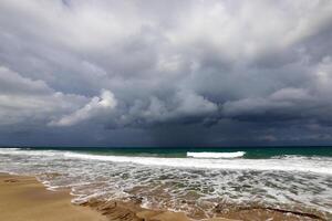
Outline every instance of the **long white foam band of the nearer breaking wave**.
<svg viewBox="0 0 332 221">
<path fill-rule="evenodd" d="M 125 157 L 101 156 L 89 154 L 65 152 L 65 157 L 86 160 L 103 160 L 113 162 L 132 162 L 146 166 L 167 166 L 179 168 L 231 169 L 231 170 L 282 170 L 332 175 L 330 158 L 297 158 L 281 159 L 206 159 L 206 158 L 160 158 L 160 157 Z M 328 160 L 328 161 L 326 161 Z"/>
</svg>

